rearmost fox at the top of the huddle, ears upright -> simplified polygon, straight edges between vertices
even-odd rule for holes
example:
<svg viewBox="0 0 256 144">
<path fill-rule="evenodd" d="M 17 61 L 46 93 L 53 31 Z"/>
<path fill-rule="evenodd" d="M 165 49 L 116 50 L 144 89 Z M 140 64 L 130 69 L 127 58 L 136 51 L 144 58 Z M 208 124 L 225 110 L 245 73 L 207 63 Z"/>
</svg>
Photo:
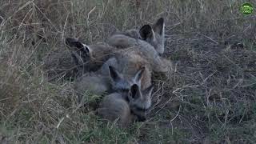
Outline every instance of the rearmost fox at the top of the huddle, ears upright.
<svg viewBox="0 0 256 144">
<path fill-rule="evenodd" d="M 110 46 L 118 48 L 140 46 L 141 51 L 154 48 L 158 54 L 163 54 L 164 42 L 164 18 L 159 18 L 152 28 L 150 25 L 144 25 L 140 30 L 127 30 L 124 33 L 114 34 L 107 40 Z"/>
</svg>

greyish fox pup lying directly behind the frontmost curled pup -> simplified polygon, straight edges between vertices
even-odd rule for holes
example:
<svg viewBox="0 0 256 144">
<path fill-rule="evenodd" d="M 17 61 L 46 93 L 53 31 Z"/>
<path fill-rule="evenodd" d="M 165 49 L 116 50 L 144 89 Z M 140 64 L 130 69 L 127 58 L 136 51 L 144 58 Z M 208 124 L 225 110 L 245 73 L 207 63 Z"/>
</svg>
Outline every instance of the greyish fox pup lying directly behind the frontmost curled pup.
<svg viewBox="0 0 256 144">
<path fill-rule="evenodd" d="M 131 78 L 126 78 L 119 73 L 113 66 L 108 66 L 108 74 L 102 74 L 101 71 L 95 73 L 87 73 L 82 75 L 74 82 L 74 90 L 78 93 L 78 101 L 80 102 L 82 95 L 89 91 L 92 94 L 102 95 L 106 92 L 127 91 L 134 83 L 141 86 L 144 69 L 138 70 Z"/>
</svg>

